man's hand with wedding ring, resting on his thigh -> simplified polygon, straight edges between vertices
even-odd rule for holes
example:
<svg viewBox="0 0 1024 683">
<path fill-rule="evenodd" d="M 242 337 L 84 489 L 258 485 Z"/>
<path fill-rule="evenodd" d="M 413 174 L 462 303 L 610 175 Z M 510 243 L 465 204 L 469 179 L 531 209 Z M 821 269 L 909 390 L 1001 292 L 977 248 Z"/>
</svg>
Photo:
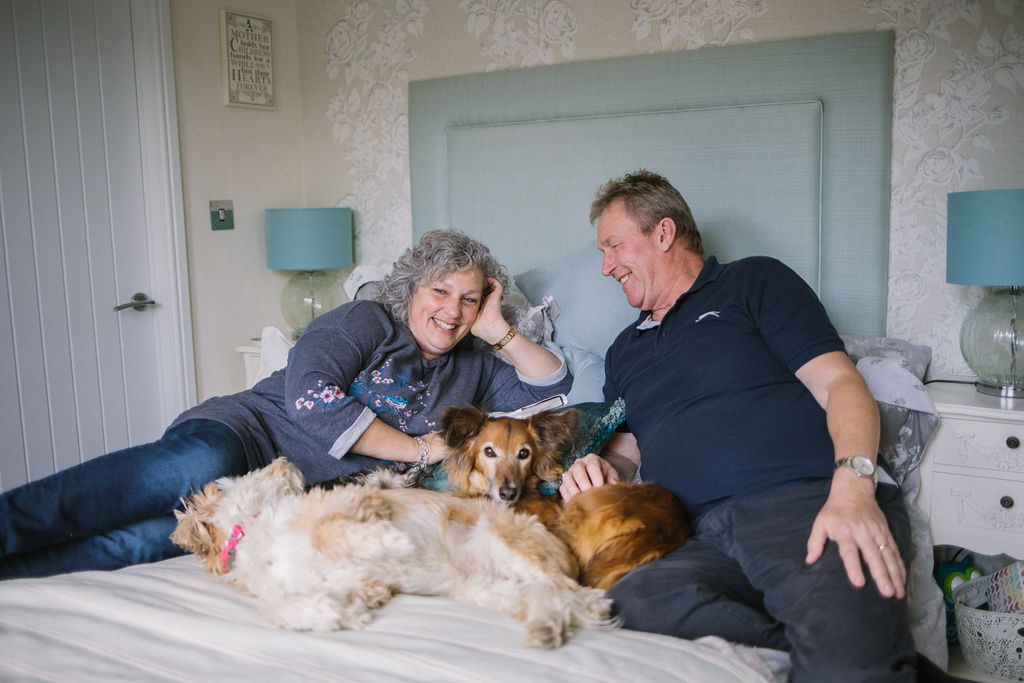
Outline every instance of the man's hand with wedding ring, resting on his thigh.
<svg viewBox="0 0 1024 683">
<path fill-rule="evenodd" d="M 821 557 L 829 539 L 839 546 L 851 584 L 860 588 L 866 583 L 860 561 L 863 557 L 879 593 L 887 598 L 906 595 L 906 567 L 867 480 L 833 481 L 833 492 L 807 540 L 808 564 Z"/>
</svg>

